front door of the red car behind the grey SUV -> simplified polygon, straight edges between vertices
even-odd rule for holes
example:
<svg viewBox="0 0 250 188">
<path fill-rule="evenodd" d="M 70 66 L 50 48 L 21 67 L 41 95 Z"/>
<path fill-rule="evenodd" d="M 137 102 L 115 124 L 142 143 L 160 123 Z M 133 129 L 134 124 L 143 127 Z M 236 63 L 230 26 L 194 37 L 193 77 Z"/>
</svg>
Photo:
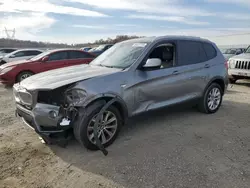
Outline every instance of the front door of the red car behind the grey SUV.
<svg viewBox="0 0 250 188">
<path fill-rule="evenodd" d="M 53 52 L 48 56 L 48 61 L 41 62 L 41 72 L 67 66 L 69 59 L 67 51 Z"/>
</svg>

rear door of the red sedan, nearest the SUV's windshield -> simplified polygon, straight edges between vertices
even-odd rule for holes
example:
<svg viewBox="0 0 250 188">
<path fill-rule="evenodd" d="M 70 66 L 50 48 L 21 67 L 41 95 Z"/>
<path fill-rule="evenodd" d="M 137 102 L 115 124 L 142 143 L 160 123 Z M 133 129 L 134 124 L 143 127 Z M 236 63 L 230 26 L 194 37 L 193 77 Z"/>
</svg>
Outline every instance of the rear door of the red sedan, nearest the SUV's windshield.
<svg viewBox="0 0 250 188">
<path fill-rule="evenodd" d="M 94 56 L 79 50 L 70 50 L 68 51 L 69 59 L 67 61 L 67 66 L 88 64 L 90 63 Z"/>
</svg>

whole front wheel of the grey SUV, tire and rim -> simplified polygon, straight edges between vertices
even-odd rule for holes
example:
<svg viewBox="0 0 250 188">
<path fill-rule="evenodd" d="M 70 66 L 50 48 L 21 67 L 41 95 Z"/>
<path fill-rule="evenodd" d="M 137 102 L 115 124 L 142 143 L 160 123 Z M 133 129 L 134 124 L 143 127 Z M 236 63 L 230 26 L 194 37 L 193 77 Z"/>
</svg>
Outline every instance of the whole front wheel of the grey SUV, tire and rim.
<svg viewBox="0 0 250 188">
<path fill-rule="evenodd" d="M 95 144 L 94 139 L 94 119 L 100 112 L 101 108 L 96 108 L 89 113 L 86 117 L 83 117 L 79 113 L 79 116 L 74 124 L 74 135 L 76 140 L 87 149 L 98 150 L 99 148 Z M 105 126 L 106 120 L 106 126 Z M 108 124 L 108 121 L 110 122 Z M 110 106 L 101 117 L 99 124 L 99 139 L 104 147 L 110 146 L 118 136 L 122 126 L 122 117 L 116 107 Z"/>
</svg>

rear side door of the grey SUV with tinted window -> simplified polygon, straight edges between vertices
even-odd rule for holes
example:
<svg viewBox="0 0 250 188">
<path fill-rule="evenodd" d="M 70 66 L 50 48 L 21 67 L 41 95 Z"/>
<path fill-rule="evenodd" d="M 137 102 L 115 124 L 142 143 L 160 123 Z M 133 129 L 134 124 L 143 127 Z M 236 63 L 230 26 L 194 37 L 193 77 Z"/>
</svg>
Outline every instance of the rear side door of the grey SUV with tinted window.
<svg viewBox="0 0 250 188">
<path fill-rule="evenodd" d="M 177 72 L 182 77 L 185 98 L 191 99 L 202 95 L 209 77 L 210 64 L 200 41 L 178 41 Z"/>
</svg>

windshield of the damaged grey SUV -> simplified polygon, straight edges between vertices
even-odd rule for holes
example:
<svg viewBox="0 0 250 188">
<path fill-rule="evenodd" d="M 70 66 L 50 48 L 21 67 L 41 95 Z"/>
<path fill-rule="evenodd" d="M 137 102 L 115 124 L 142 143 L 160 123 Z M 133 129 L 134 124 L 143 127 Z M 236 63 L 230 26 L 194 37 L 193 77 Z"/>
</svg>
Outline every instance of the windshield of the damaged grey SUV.
<svg viewBox="0 0 250 188">
<path fill-rule="evenodd" d="M 127 68 L 142 54 L 147 43 L 118 43 L 94 59 L 90 64 L 111 68 Z"/>
</svg>

